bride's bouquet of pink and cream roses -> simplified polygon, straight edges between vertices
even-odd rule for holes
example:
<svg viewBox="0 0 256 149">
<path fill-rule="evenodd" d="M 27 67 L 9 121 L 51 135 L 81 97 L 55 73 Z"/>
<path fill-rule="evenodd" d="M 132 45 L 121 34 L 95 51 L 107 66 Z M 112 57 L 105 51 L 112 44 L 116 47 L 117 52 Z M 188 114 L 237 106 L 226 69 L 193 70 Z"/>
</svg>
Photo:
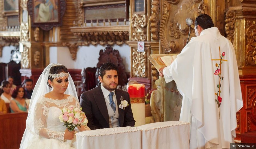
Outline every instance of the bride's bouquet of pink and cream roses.
<svg viewBox="0 0 256 149">
<path fill-rule="evenodd" d="M 71 105 L 68 108 L 64 107 L 61 111 L 62 114 L 59 116 L 60 122 L 64 122 L 63 126 L 66 126 L 69 131 L 74 130 L 77 126 L 86 126 L 88 123 L 82 108 L 74 108 Z"/>
</svg>

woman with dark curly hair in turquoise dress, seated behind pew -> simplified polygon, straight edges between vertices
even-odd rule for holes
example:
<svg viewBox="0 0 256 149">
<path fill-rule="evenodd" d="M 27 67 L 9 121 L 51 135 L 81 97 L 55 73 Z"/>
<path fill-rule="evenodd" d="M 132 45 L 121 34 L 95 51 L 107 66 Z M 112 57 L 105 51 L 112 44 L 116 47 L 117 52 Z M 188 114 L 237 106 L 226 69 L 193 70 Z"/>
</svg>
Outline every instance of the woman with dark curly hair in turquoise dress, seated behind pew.
<svg viewBox="0 0 256 149">
<path fill-rule="evenodd" d="M 27 112 L 28 105 L 25 101 L 25 89 L 21 86 L 17 86 L 16 89 L 13 91 L 12 97 L 14 99 L 12 99 L 10 102 L 11 113 Z"/>
</svg>

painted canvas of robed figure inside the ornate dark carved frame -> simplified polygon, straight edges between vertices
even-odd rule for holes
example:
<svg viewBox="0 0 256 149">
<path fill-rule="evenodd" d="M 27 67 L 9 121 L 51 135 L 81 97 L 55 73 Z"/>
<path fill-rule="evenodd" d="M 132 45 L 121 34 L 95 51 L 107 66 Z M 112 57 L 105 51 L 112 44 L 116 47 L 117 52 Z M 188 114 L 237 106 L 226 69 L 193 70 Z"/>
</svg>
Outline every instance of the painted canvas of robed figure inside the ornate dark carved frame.
<svg viewBox="0 0 256 149">
<path fill-rule="evenodd" d="M 47 23 L 59 21 L 58 0 L 34 0 L 34 22 Z"/>
</svg>

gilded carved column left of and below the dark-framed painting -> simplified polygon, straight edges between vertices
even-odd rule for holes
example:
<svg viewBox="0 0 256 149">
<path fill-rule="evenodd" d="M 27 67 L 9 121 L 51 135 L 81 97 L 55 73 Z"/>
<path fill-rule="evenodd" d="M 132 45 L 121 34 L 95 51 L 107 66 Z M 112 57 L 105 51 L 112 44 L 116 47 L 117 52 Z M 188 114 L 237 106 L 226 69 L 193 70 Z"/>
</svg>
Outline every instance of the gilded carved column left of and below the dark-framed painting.
<svg viewBox="0 0 256 149">
<path fill-rule="evenodd" d="M 42 46 L 42 31 L 31 27 L 28 15 L 27 0 L 20 1 L 20 51 L 22 54 L 21 69 L 22 80 L 31 78 L 37 80 L 44 69 L 45 52 Z M 47 56 L 48 57 L 48 56 Z M 36 82 L 33 82 L 34 84 Z"/>
</svg>

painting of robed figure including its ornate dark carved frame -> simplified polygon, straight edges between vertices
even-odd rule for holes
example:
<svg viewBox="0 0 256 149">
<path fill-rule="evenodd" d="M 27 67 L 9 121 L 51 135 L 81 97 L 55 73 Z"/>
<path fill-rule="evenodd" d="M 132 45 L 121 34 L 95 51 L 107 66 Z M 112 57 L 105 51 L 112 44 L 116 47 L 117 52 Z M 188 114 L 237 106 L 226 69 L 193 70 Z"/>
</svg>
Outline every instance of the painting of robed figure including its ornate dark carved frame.
<svg viewBox="0 0 256 149">
<path fill-rule="evenodd" d="M 62 17 L 66 11 L 65 0 L 28 0 L 28 13 L 31 26 L 42 30 L 51 30 L 62 25 Z"/>
</svg>

